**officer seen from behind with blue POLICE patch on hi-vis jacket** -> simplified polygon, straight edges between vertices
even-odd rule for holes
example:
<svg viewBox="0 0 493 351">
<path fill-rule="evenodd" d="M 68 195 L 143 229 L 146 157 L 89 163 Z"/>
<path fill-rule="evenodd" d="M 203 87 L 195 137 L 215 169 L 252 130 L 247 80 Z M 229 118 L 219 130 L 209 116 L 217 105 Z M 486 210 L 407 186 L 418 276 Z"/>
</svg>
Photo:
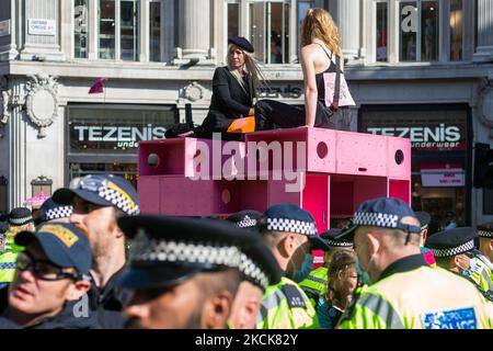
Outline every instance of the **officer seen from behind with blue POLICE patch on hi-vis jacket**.
<svg viewBox="0 0 493 351">
<path fill-rule="evenodd" d="M 354 226 L 358 264 L 371 285 L 346 310 L 343 329 L 492 328 L 490 307 L 467 280 L 431 268 L 420 250 L 420 222 L 401 200 L 362 203 Z M 429 239 L 428 239 L 429 242 Z"/>
</svg>

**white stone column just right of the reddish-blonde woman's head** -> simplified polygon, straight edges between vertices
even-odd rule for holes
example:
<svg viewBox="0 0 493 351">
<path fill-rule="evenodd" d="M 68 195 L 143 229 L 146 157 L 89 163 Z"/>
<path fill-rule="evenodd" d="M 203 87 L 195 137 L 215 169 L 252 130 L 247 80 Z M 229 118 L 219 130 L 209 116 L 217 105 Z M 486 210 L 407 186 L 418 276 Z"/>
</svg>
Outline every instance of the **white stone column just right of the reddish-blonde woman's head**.
<svg viewBox="0 0 493 351">
<path fill-rule="evenodd" d="M 360 57 L 360 1 L 337 0 L 330 3 L 331 14 L 337 23 L 343 41 L 344 58 L 349 61 Z"/>
</svg>

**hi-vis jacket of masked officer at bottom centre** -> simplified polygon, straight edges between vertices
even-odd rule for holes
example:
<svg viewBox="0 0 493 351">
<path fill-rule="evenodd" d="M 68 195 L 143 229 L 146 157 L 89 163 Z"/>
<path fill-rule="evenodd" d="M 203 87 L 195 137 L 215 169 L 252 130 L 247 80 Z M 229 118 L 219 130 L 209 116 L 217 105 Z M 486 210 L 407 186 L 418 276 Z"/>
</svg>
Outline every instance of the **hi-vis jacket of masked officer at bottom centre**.
<svg viewBox="0 0 493 351">
<path fill-rule="evenodd" d="M 264 293 L 256 329 L 316 329 L 319 319 L 308 296 L 291 280 L 283 276 Z"/>
</svg>

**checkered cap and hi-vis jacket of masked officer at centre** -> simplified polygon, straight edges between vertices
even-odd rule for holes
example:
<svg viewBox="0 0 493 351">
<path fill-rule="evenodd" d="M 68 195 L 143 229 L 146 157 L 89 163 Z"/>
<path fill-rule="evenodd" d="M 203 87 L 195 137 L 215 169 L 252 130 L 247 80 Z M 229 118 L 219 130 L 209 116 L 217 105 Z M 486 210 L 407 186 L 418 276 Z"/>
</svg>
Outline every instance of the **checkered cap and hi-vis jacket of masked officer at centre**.
<svg viewBox="0 0 493 351">
<path fill-rule="evenodd" d="M 311 215 L 291 204 L 278 204 L 265 212 L 264 231 L 306 235 L 313 249 L 328 250 L 318 236 Z M 316 309 L 307 294 L 293 280 L 283 276 L 278 284 L 267 287 L 256 320 L 257 329 L 319 328 Z"/>
</svg>

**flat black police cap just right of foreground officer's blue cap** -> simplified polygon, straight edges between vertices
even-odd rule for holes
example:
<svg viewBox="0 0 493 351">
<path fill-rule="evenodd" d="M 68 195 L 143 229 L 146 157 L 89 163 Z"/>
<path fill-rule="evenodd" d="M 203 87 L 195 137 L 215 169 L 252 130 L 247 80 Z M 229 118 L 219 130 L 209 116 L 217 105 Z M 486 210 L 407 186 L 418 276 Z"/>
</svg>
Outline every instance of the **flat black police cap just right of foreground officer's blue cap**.
<svg viewBox="0 0 493 351">
<path fill-rule="evenodd" d="M 471 227 L 444 230 L 429 237 L 426 247 L 435 257 L 454 257 L 472 250 L 477 236 L 477 231 Z"/>
</svg>

